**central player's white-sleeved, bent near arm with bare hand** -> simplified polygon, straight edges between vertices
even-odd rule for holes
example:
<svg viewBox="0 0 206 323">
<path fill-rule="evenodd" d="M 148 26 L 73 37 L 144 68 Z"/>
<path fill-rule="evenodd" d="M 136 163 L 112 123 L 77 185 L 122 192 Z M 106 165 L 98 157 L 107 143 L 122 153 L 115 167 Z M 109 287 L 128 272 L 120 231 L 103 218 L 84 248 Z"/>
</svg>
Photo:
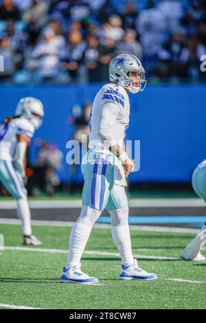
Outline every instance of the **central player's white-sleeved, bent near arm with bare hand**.
<svg viewBox="0 0 206 323">
<path fill-rule="evenodd" d="M 124 166 L 126 175 L 128 175 L 130 172 L 133 172 L 135 164 L 132 159 L 128 157 L 126 151 L 117 144 L 113 135 L 113 126 L 119 113 L 119 109 L 121 108 L 115 103 L 105 102 L 103 104 L 98 135 L 104 146 L 119 158 Z"/>
</svg>

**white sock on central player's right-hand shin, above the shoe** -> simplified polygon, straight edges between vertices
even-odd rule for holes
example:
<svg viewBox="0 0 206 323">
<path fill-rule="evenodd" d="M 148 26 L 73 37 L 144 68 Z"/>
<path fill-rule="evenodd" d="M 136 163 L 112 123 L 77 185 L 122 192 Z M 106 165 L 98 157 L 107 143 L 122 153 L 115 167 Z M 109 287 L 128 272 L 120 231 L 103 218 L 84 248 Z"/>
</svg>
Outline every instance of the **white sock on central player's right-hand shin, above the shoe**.
<svg viewBox="0 0 206 323">
<path fill-rule="evenodd" d="M 122 259 L 122 265 L 130 266 L 134 263 L 130 229 L 128 225 L 112 225 L 112 237 Z"/>
</svg>

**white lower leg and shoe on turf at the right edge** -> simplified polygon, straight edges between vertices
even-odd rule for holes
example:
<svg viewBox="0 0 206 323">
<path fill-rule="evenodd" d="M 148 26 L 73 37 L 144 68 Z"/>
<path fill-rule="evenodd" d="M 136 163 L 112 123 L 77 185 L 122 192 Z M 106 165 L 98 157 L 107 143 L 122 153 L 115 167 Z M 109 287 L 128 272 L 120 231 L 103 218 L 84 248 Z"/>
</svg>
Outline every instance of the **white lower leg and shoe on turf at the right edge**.
<svg viewBox="0 0 206 323">
<path fill-rule="evenodd" d="M 206 258 L 201 254 L 201 249 L 203 249 L 206 242 L 206 223 L 203 225 L 201 231 L 196 235 L 196 237 L 185 247 L 181 258 L 183 260 L 193 260 L 193 261 L 205 261 Z"/>
</svg>

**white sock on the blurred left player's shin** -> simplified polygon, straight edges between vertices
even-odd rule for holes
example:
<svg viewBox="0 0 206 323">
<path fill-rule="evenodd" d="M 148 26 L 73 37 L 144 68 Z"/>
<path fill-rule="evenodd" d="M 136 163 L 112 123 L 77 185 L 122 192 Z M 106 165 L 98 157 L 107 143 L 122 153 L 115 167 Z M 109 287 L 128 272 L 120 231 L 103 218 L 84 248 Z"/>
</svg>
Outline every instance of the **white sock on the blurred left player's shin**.
<svg viewBox="0 0 206 323">
<path fill-rule="evenodd" d="M 31 227 L 31 213 L 28 205 L 27 197 L 22 197 L 16 200 L 17 203 L 17 215 L 22 221 L 22 230 L 25 236 L 30 236 L 32 234 Z"/>
</svg>

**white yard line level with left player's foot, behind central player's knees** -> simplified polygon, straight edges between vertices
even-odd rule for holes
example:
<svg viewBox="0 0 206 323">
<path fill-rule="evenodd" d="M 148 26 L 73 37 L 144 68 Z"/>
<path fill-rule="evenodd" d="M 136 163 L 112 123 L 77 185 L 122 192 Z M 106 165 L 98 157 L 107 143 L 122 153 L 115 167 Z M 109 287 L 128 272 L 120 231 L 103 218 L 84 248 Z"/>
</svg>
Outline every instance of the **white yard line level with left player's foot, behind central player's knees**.
<svg viewBox="0 0 206 323">
<path fill-rule="evenodd" d="M 12 224 L 21 225 L 19 219 L 1 219 L 0 224 Z M 44 220 L 32 220 L 32 225 L 43 225 L 49 227 L 73 227 L 74 222 L 71 221 L 44 221 Z M 95 223 L 94 227 L 96 229 L 110 229 L 111 224 Z M 199 232 L 199 229 L 192 229 L 187 227 L 158 227 L 154 225 L 130 225 L 130 230 L 139 231 L 155 231 L 155 232 L 175 232 L 175 233 L 194 233 Z"/>
</svg>

